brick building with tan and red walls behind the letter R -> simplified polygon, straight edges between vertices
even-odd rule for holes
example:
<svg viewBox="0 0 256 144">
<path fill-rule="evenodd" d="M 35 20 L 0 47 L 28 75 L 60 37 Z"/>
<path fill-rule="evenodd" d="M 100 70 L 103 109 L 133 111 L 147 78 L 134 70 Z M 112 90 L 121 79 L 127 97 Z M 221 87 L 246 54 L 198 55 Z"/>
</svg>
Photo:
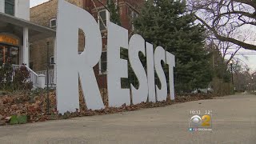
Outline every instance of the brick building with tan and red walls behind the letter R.
<svg viewBox="0 0 256 144">
<path fill-rule="evenodd" d="M 79 6 L 90 12 L 98 21 L 99 28 L 102 31 L 102 58 L 97 66 L 94 67 L 95 75 L 98 79 L 100 88 L 106 87 L 106 37 L 107 22 L 110 21 L 110 14 L 104 7 L 106 0 L 66 0 L 76 6 Z M 117 0 L 119 6 L 119 14 L 122 27 L 132 34 L 134 26 L 132 19 L 138 16 L 139 7 L 142 6 L 144 0 Z M 52 29 L 56 28 L 58 0 L 50 0 L 41 5 L 34 6 L 30 9 L 30 21 L 38 25 L 48 26 Z M 100 19 L 102 18 L 102 20 Z M 84 49 L 85 43 L 82 30 L 79 30 L 78 54 Z M 49 42 L 49 59 L 46 57 L 47 42 Z M 50 62 L 50 83 L 54 83 L 54 38 L 46 38 L 38 42 L 34 42 L 30 46 L 30 68 L 38 74 L 46 74 L 47 60 Z"/>
</svg>

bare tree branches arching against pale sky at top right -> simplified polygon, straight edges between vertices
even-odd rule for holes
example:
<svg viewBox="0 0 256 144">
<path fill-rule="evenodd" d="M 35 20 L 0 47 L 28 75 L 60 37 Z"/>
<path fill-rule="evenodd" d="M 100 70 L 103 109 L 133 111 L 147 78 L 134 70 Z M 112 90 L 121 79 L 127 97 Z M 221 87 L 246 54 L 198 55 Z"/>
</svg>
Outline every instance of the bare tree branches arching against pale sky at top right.
<svg viewBox="0 0 256 144">
<path fill-rule="evenodd" d="M 256 0 L 188 0 L 188 9 L 215 38 L 256 50 L 248 42 L 255 34 Z"/>
</svg>

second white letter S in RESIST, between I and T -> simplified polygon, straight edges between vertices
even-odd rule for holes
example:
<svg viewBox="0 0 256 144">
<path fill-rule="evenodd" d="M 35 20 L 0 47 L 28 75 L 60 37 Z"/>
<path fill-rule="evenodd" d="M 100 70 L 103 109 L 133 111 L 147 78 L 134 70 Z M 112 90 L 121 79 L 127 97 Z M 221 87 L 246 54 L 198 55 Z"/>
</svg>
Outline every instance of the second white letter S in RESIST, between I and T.
<svg viewBox="0 0 256 144">
<path fill-rule="evenodd" d="M 162 70 L 162 65 L 161 65 L 162 61 L 166 63 L 166 54 L 165 53 L 166 53 L 166 51 L 161 46 L 158 46 L 154 50 L 154 67 L 158 74 L 158 78 L 161 82 L 161 89 L 159 89 L 158 86 L 156 88 L 158 101 L 163 101 L 163 100 L 166 100 L 166 98 L 167 98 L 166 75 L 165 75 L 164 71 Z"/>
</svg>

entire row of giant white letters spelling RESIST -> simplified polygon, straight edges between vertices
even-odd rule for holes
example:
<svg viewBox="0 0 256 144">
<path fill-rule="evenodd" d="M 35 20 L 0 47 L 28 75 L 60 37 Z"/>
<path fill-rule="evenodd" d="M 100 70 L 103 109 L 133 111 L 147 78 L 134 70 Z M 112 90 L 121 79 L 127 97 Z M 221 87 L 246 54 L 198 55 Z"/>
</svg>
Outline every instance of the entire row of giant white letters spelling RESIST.
<svg viewBox="0 0 256 144">
<path fill-rule="evenodd" d="M 104 109 L 102 97 L 95 78 L 93 67 L 102 54 L 102 36 L 94 17 L 77 6 L 63 0 L 58 1 L 57 18 L 57 101 L 58 111 L 74 112 L 79 108 L 78 78 L 88 109 Z M 86 35 L 86 46 L 78 54 L 78 29 Z M 167 83 L 161 62 L 169 66 L 170 98 L 174 99 L 174 55 L 162 46 L 153 49 L 153 45 L 134 34 L 128 42 L 128 30 L 108 22 L 107 25 L 107 89 L 109 106 L 130 105 L 130 91 L 133 103 L 166 100 Z M 121 78 L 128 78 L 128 62 L 120 58 L 120 50 L 128 50 L 129 62 L 139 82 L 138 89 L 130 84 L 131 90 L 122 89 Z M 138 57 L 142 52 L 146 56 L 146 70 Z M 155 85 L 154 70 L 158 74 L 161 87 Z"/>
</svg>

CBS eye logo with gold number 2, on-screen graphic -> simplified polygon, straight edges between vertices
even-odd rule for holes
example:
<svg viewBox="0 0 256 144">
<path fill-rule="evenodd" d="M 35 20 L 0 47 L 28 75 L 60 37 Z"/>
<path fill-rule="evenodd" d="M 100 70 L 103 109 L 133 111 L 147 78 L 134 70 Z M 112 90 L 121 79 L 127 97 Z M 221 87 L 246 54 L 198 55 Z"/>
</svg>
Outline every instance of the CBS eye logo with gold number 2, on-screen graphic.
<svg viewBox="0 0 256 144">
<path fill-rule="evenodd" d="M 190 122 L 194 126 L 210 126 L 210 121 L 210 115 L 202 115 L 202 118 L 199 115 L 194 115 L 190 118 Z"/>
</svg>

